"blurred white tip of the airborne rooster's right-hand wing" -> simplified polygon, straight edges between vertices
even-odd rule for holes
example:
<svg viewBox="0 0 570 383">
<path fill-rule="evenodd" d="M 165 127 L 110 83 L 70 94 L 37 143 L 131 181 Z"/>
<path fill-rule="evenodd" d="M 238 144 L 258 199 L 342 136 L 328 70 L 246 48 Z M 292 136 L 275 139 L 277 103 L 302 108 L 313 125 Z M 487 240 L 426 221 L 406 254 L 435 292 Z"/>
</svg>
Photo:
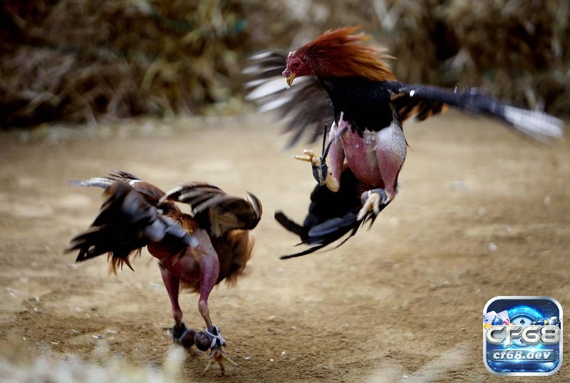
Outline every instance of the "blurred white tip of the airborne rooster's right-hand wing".
<svg viewBox="0 0 570 383">
<path fill-rule="evenodd" d="M 563 121 L 544 112 L 504 106 L 504 119 L 517 131 L 542 142 L 549 141 L 549 138 L 564 138 Z"/>
</svg>

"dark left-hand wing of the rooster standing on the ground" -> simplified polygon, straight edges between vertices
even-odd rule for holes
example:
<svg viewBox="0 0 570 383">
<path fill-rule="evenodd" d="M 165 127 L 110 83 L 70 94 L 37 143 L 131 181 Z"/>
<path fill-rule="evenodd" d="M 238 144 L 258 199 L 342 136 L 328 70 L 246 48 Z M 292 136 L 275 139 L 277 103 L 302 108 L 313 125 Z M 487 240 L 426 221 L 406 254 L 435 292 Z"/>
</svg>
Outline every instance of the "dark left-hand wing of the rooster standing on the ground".
<svg viewBox="0 0 570 383">
<path fill-rule="evenodd" d="M 140 252 L 149 242 L 170 239 L 172 243 L 180 246 L 180 250 L 195 245 L 195 240 L 175 220 L 163 215 L 157 205 L 149 202 L 149 195 L 145 194 L 145 190 L 157 193 L 156 190 L 160 189 L 138 179 L 133 183 L 133 178 L 115 175 L 71 181 L 76 185 L 105 188 L 104 195 L 107 196 L 90 228 L 73 238 L 66 250 L 79 250 L 76 262 L 109 253 L 111 270 L 116 272 L 123 262 L 132 269 L 129 255 Z M 135 185 L 142 185 L 143 191 L 137 190 Z M 155 202 L 157 200 L 155 199 Z"/>
</svg>

